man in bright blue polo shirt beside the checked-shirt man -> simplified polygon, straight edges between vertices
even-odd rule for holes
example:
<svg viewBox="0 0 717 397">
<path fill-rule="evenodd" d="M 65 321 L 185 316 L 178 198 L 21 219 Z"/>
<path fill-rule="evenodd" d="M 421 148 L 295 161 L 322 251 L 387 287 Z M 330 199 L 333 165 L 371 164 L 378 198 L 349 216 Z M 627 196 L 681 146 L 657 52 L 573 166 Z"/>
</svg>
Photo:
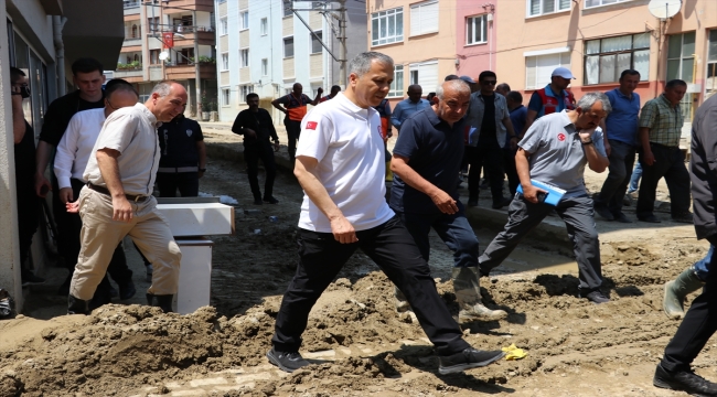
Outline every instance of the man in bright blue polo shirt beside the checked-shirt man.
<svg viewBox="0 0 717 397">
<path fill-rule="evenodd" d="M 625 69 L 620 75 L 620 87 L 604 93 L 612 105 L 612 111 L 604 119 L 607 131 L 602 131 L 608 136 L 610 143 L 610 172 L 595 200 L 595 212 L 608 221 L 632 223 L 622 213 L 622 198 L 628 191 L 632 167 L 635 163 L 640 95 L 634 90 L 638 83 L 640 72 Z"/>
</svg>

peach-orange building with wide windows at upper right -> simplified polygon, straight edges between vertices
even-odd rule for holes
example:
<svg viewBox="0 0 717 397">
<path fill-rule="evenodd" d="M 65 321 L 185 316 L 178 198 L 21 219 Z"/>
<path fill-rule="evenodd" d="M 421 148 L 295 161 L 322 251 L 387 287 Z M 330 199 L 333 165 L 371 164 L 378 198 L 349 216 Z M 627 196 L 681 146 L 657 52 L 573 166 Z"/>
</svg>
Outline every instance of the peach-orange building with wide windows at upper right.
<svg viewBox="0 0 717 397">
<path fill-rule="evenodd" d="M 549 83 L 565 66 L 577 77 L 576 97 L 618 86 L 620 73 L 634 68 L 636 93 L 646 101 L 666 81 L 688 83 L 685 120 L 717 89 L 717 1 L 683 1 L 672 18 L 651 14 L 649 0 L 501 1 L 497 25 L 499 79 L 525 94 Z M 683 135 L 688 133 L 689 122 Z"/>
</svg>

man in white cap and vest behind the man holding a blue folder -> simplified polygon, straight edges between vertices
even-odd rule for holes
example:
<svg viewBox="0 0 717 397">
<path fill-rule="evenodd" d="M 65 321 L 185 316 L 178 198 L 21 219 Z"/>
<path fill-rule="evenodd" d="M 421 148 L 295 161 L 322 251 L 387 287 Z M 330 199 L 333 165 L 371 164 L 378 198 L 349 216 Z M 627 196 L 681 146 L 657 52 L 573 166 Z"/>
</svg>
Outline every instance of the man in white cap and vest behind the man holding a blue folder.
<svg viewBox="0 0 717 397">
<path fill-rule="evenodd" d="M 550 84 L 536 89 L 527 105 L 527 117 L 521 137 L 531 128 L 533 121 L 541 117 L 563 110 L 575 110 L 575 97 L 567 90 L 572 72 L 567 67 L 556 67 L 550 75 Z"/>
</svg>

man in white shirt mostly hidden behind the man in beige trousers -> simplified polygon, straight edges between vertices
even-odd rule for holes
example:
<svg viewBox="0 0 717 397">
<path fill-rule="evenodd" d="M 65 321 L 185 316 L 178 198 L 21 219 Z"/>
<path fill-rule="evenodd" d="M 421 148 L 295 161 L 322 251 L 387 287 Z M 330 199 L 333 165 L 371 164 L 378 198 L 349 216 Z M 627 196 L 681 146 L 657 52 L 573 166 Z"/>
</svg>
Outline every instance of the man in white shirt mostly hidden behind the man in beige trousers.
<svg viewBox="0 0 717 397">
<path fill-rule="evenodd" d="M 121 78 L 116 78 L 107 83 L 105 87 L 105 107 L 98 109 L 89 109 L 75 114 L 67 130 L 63 135 L 60 143 L 57 144 L 57 153 L 55 154 L 54 170 L 57 176 L 57 185 L 60 187 L 60 201 L 67 204 L 74 201 L 73 197 L 79 196 L 79 191 L 87 184 L 83 180 L 83 173 L 89 154 L 97 141 L 97 136 L 105 124 L 107 116 L 113 111 L 127 107 L 135 106 L 139 98 L 137 92 Z M 68 257 L 75 258 L 79 255 L 81 242 L 79 233 L 82 232 L 82 219 L 77 214 L 67 214 L 68 223 L 67 232 L 75 238 L 67 238 Z M 125 250 L 120 245 L 115 249 L 107 272 L 119 286 L 119 299 L 127 300 L 135 296 L 137 292 L 135 283 L 132 282 L 132 271 L 127 267 L 125 258 Z M 72 272 L 68 275 L 67 286 L 72 280 Z M 97 287 L 97 291 L 89 304 L 90 309 L 95 309 L 101 304 L 110 302 L 110 285 L 107 277 Z"/>
</svg>

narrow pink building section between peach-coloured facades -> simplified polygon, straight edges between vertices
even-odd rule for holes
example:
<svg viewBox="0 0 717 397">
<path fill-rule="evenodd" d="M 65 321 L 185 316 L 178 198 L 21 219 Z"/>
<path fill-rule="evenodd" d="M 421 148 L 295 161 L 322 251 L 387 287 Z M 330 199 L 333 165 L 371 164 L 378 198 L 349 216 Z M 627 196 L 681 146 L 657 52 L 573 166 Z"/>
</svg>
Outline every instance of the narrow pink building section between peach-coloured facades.
<svg viewBox="0 0 717 397">
<path fill-rule="evenodd" d="M 456 0 L 457 74 L 478 78 L 495 71 L 497 0 Z M 501 76 L 497 76 L 502 82 Z"/>
</svg>

